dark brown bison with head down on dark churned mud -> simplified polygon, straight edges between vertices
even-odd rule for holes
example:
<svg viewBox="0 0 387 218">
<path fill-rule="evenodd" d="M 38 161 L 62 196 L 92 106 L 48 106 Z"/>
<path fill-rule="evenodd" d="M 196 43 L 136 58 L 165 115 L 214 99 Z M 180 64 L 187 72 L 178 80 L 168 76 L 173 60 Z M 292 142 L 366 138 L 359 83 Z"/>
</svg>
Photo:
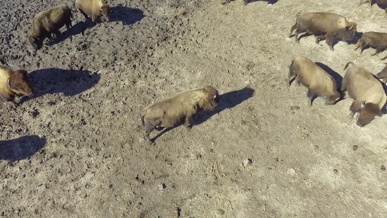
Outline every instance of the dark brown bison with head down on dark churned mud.
<svg viewBox="0 0 387 218">
<path fill-rule="evenodd" d="M 32 33 L 28 36 L 28 41 L 35 49 L 43 45 L 45 38 L 51 38 L 51 33 L 60 36 L 59 31 L 64 25 L 70 29 L 71 10 L 67 5 L 58 5 L 37 14 L 32 21 Z"/>
</svg>

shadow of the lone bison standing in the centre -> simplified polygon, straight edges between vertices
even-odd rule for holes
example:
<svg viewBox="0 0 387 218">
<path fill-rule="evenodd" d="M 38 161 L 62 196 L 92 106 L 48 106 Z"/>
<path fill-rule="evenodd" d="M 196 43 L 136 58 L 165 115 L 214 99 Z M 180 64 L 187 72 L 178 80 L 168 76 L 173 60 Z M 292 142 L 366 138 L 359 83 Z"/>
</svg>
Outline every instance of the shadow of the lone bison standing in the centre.
<svg viewBox="0 0 387 218">
<path fill-rule="evenodd" d="M 191 118 L 191 125 L 192 126 L 199 125 L 204 121 L 206 121 L 207 119 L 211 118 L 214 114 L 217 114 L 225 109 L 235 107 L 238 104 L 241 104 L 242 102 L 244 102 L 245 100 L 253 97 L 253 95 L 254 95 L 254 90 L 250 87 L 245 87 L 241 90 L 236 90 L 236 91 L 224 93 L 223 95 L 219 95 L 219 105 L 215 108 L 215 110 L 198 112 Z M 154 137 L 152 141 L 156 140 L 164 133 L 170 130 L 173 130 L 174 128 L 180 125 L 176 125 L 174 127 L 169 127 L 164 129 L 161 133 L 159 133 L 156 137 Z"/>
</svg>

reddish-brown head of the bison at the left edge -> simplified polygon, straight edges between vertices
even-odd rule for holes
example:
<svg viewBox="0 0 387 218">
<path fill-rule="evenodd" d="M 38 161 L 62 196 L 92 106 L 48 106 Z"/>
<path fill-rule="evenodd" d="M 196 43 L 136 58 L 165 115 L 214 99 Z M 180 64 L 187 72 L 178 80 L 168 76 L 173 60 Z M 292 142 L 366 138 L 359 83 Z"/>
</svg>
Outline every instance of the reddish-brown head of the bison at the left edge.
<svg viewBox="0 0 387 218">
<path fill-rule="evenodd" d="M 14 71 L 12 76 L 9 77 L 7 86 L 12 92 L 17 94 L 31 96 L 34 94 L 34 88 L 31 81 L 28 78 L 26 70 Z"/>
</svg>

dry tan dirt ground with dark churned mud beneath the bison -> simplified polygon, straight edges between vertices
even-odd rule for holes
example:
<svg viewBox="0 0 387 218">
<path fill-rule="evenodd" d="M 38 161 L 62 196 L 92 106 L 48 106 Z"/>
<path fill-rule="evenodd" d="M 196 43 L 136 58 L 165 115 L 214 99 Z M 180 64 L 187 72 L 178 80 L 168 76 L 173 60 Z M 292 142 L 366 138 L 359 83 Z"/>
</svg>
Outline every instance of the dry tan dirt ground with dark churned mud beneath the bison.
<svg viewBox="0 0 387 218">
<path fill-rule="evenodd" d="M 0 108 L 1 217 L 387 217 L 387 116 L 360 128 L 351 99 L 309 107 L 306 89 L 285 83 L 297 55 L 337 80 L 348 61 L 379 72 L 387 52 L 288 38 L 295 14 L 312 11 L 386 32 L 376 4 L 115 0 L 105 24 L 72 7 L 73 28 L 34 52 L 30 20 L 61 3 L 72 7 L 0 9 L 1 63 L 31 72 L 36 91 Z M 205 85 L 221 93 L 216 111 L 145 142 L 142 108 Z"/>
</svg>

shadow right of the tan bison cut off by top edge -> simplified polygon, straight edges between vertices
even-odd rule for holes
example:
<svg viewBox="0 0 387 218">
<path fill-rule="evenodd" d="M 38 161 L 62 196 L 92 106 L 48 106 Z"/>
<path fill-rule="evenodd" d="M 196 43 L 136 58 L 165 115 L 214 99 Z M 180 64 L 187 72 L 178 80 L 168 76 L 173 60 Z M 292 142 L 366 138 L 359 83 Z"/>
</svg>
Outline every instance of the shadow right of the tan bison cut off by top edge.
<svg viewBox="0 0 387 218">
<path fill-rule="evenodd" d="M 137 8 L 111 7 L 110 22 L 122 21 L 123 25 L 131 25 L 141 21 L 144 17 L 144 12 Z"/>
</svg>

